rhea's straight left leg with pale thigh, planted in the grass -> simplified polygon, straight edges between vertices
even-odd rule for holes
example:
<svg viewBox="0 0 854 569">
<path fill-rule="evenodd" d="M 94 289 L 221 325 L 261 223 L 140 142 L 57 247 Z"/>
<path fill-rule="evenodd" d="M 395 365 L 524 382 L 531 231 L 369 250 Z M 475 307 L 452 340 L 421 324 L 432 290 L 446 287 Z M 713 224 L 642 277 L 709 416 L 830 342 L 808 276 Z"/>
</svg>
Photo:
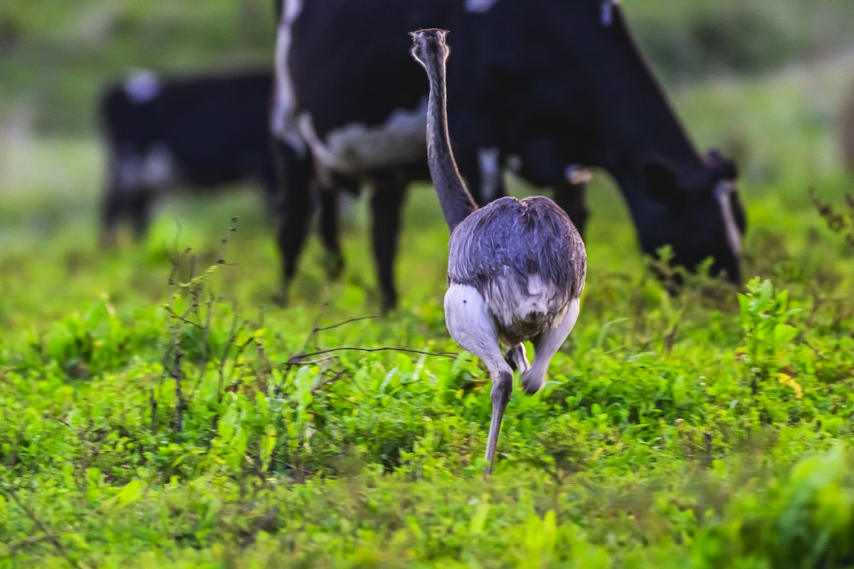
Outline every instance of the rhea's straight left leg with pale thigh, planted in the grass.
<svg viewBox="0 0 854 569">
<path fill-rule="evenodd" d="M 480 357 L 492 377 L 492 420 L 486 445 L 488 466 L 484 473 L 492 473 L 495 449 L 501 420 L 513 388 L 513 371 L 501 355 L 498 330 L 486 308 L 483 296 L 475 287 L 452 284 L 445 293 L 445 323 L 447 331 L 457 344 Z"/>
</svg>

